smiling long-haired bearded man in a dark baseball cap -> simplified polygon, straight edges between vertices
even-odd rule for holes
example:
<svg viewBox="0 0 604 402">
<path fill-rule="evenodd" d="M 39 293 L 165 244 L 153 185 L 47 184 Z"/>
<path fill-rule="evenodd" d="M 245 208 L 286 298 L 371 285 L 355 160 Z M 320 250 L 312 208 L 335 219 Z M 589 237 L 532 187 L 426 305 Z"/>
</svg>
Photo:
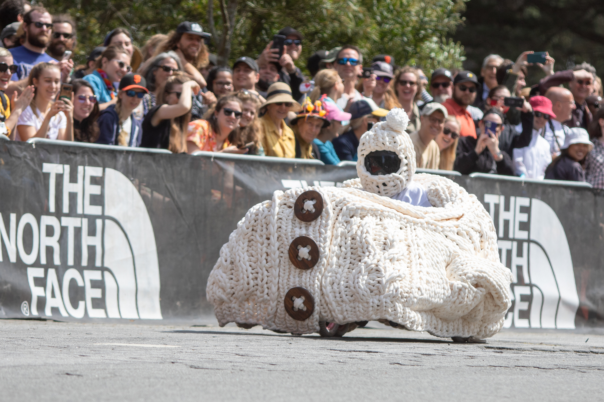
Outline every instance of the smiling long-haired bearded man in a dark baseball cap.
<svg viewBox="0 0 604 402">
<path fill-rule="evenodd" d="M 204 39 L 210 38 L 211 34 L 205 33 L 201 25 L 189 21 L 181 22 L 176 27 L 176 31 L 170 32 L 167 39 L 159 43 L 155 49 L 155 55 L 170 50 L 175 51 L 181 58 L 185 74 L 203 89 L 207 84 L 199 69 L 209 63 L 208 49 Z"/>
</svg>

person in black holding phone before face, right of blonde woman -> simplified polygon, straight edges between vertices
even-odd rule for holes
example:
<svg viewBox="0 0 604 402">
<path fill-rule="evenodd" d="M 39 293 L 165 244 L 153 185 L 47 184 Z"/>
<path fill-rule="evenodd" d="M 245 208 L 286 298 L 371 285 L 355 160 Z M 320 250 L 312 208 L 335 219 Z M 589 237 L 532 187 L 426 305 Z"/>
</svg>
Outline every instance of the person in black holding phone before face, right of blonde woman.
<svg viewBox="0 0 604 402">
<path fill-rule="evenodd" d="M 486 110 L 478 127 L 478 139 L 470 136 L 460 137 L 454 170 L 461 174 L 480 172 L 513 176 L 514 165 L 510 155 L 499 149 L 503 113 L 497 108 Z"/>
</svg>

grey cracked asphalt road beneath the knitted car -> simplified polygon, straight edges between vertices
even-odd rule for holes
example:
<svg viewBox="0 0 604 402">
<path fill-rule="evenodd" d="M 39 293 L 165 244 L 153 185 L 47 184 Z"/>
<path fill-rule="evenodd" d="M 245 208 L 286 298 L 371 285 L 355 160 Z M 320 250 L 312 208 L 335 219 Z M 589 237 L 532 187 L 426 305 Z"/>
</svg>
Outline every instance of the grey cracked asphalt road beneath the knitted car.
<svg viewBox="0 0 604 402">
<path fill-rule="evenodd" d="M 344 338 L 227 325 L 0 320 L 2 401 L 594 401 L 604 336 L 453 344 L 370 322 Z"/>
</svg>

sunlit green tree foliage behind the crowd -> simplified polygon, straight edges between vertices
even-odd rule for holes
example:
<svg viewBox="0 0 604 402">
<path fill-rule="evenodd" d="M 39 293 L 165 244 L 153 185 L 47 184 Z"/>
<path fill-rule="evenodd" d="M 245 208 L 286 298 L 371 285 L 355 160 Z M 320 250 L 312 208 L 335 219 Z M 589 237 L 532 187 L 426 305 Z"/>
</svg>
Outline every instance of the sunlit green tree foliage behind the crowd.
<svg viewBox="0 0 604 402">
<path fill-rule="evenodd" d="M 208 1 L 213 1 L 211 13 Z M 463 46 L 446 38 L 461 22 L 465 1 L 47 0 L 45 5 L 53 13 L 66 12 L 76 19 L 80 61 L 114 28 L 129 28 L 135 43 L 143 46 L 153 34 L 191 20 L 214 34 L 211 51 L 218 50 L 230 61 L 240 55 L 256 57 L 278 30 L 289 25 L 304 35 L 301 60 L 318 49 L 350 43 L 359 46 L 365 58 L 390 54 L 397 64 L 420 64 L 430 71 L 436 66 L 458 67 L 464 60 Z M 227 40 L 221 40 L 225 34 Z"/>
</svg>

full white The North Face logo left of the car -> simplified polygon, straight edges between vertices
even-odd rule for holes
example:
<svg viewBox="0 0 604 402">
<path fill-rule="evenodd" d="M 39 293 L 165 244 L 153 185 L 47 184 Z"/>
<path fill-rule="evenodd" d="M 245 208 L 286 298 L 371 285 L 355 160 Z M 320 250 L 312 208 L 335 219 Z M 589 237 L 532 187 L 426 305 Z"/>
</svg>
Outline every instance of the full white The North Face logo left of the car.
<svg viewBox="0 0 604 402">
<path fill-rule="evenodd" d="M 71 168 L 43 163 L 48 215 L 36 218 L 25 213 L 17 221 L 14 213 L 9 219 L 0 213 L 0 237 L 8 259 L 15 263 L 18 254 L 28 265 L 31 300 L 22 301 L 21 312 L 162 319 L 155 235 L 137 188 L 115 169 Z M 48 260 L 47 251 L 52 254 Z"/>
</svg>

